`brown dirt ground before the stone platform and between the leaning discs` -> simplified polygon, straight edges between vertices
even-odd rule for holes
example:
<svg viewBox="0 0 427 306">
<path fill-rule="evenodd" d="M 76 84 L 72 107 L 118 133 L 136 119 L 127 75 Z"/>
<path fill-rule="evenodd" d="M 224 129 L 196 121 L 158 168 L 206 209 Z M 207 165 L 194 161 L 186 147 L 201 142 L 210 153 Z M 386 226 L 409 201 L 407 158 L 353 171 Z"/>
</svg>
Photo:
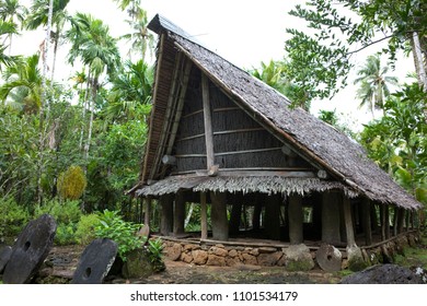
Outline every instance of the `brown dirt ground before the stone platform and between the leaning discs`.
<svg viewBox="0 0 427 306">
<path fill-rule="evenodd" d="M 36 283 L 68 283 L 78 264 L 81 246 L 54 247 L 41 269 Z M 165 259 L 166 269 L 147 279 L 126 280 L 107 276 L 106 283 L 122 284 L 328 284 L 341 278 L 321 269 L 310 272 L 287 272 L 284 267 L 208 267 Z"/>
</svg>

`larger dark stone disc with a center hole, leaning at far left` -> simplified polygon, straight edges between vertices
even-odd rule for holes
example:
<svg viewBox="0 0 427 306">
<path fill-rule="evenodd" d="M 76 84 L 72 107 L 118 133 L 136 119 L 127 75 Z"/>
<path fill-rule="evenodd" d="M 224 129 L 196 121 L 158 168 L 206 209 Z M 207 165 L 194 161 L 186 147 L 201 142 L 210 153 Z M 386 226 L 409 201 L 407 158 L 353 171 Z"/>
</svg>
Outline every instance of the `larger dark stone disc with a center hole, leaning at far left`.
<svg viewBox="0 0 427 306">
<path fill-rule="evenodd" d="M 4 269 L 3 283 L 30 283 L 49 255 L 56 233 L 55 219 L 43 214 L 21 232 Z"/>
</svg>

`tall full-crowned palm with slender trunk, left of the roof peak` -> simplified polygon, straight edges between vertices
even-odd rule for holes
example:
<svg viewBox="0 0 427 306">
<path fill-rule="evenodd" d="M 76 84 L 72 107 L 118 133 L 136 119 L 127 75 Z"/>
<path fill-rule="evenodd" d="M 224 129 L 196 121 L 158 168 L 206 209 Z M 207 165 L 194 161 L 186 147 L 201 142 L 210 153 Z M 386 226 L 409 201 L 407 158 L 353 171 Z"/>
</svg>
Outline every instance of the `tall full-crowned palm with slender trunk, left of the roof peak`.
<svg viewBox="0 0 427 306">
<path fill-rule="evenodd" d="M 119 66 L 119 51 L 116 40 L 109 35 L 108 27 L 101 20 L 91 15 L 77 13 L 72 27 L 67 32 L 71 43 L 68 61 L 72 64 L 77 59 L 88 68 L 88 90 L 91 98 L 91 111 L 88 129 L 88 141 L 84 146 L 84 157 L 88 160 L 92 138 L 94 107 L 100 89 L 100 78 L 103 73 L 113 74 Z"/>
</svg>

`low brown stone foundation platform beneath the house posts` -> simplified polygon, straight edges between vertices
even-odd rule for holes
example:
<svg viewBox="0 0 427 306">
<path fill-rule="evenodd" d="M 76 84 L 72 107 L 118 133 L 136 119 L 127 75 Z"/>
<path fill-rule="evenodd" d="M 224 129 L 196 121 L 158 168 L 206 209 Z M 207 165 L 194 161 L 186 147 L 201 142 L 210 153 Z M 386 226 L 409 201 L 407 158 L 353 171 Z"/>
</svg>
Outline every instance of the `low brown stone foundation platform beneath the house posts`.
<svg viewBox="0 0 427 306">
<path fill-rule="evenodd" d="M 285 267 L 286 270 L 307 271 L 313 269 L 320 244 L 289 245 L 274 243 L 215 242 L 200 239 L 178 239 L 160 237 L 163 240 L 164 255 L 173 261 L 184 261 L 197 266 L 233 267 L 239 264 L 262 267 Z M 419 243 L 416 231 L 400 234 L 388 240 L 360 247 L 367 266 L 392 263 L 396 254 L 404 254 L 408 246 Z M 348 268 L 346 248 L 336 248 L 342 252 L 342 269 Z"/>
</svg>

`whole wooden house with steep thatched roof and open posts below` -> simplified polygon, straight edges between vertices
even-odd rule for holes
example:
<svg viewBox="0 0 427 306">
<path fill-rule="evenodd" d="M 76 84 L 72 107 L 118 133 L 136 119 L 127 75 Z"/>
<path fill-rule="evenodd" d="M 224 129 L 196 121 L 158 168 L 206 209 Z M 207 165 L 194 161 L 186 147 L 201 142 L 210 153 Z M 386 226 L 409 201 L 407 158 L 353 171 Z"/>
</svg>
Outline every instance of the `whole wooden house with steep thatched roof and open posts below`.
<svg viewBox="0 0 427 306">
<path fill-rule="evenodd" d="M 160 36 L 153 108 L 141 180 L 132 191 L 159 199 L 164 235 L 183 232 L 185 202 L 201 203 L 203 211 L 211 203 L 214 239 L 239 233 L 249 208 L 249 223 L 265 228 L 263 237 L 291 244 L 309 233 L 303 207 L 313 211 L 311 237 L 322 242 L 355 245 L 355 228 L 367 244 L 376 228 L 388 238 L 389 208 L 395 212 L 392 228 L 408 227 L 405 215 L 420 203 L 359 144 L 303 109 L 289 108 L 284 95 L 166 19 L 157 15 L 149 28 Z M 200 222 L 206 238 L 206 214 Z"/>
</svg>

